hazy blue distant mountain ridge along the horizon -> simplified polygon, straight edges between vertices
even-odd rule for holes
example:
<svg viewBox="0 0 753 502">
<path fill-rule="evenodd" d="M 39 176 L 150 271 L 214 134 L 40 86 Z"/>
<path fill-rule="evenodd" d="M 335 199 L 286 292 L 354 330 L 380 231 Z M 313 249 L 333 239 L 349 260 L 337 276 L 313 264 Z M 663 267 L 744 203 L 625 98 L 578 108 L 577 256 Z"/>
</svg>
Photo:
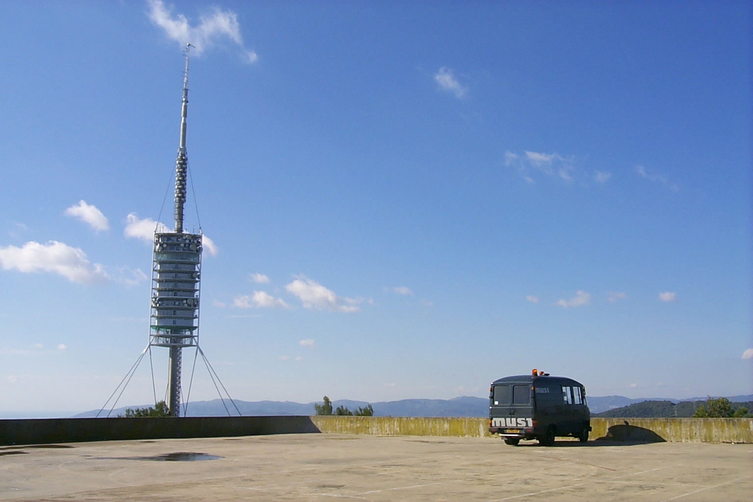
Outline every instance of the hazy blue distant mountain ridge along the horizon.
<svg viewBox="0 0 753 502">
<path fill-rule="evenodd" d="M 753 394 L 743 396 L 727 397 L 730 401 L 741 403 L 753 401 Z M 624 406 L 630 406 L 634 403 L 644 401 L 667 401 L 672 403 L 705 401 L 706 397 L 693 397 L 691 399 L 676 400 L 666 398 L 640 398 L 633 399 L 624 396 L 589 396 L 587 398 L 588 406 L 591 413 L 606 412 L 611 409 L 618 409 Z M 313 415 L 314 404 L 321 403 L 316 401 L 312 403 L 294 403 L 293 401 L 242 401 L 235 400 L 236 406 L 242 415 L 247 416 L 273 416 L 273 415 Z M 356 409 L 370 404 L 373 406 L 374 415 L 376 416 L 402 416 L 402 417 L 487 417 L 489 416 L 489 400 L 486 397 L 461 396 L 452 399 L 404 399 L 397 401 L 356 401 L 340 399 L 334 400 L 332 405 L 346 406 L 349 409 Z M 145 408 L 153 405 L 127 406 L 129 408 Z M 230 410 L 231 415 L 237 415 L 235 407 L 229 400 L 225 400 L 224 406 L 221 400 L 211 401 L 192 401 L 187 406 L 187 416 L 224 416 L 227 415 L 225 409 Z M 114 409 L 110 416 L 123 415 L 126 406 Z M 88 412 L 79 413 L 75 418 L 93 417 L 99 412 L 99 409 L 93 409 Z M 106 416 L 108 410 L 101 413 L 100 416 Z"/>
</svg>

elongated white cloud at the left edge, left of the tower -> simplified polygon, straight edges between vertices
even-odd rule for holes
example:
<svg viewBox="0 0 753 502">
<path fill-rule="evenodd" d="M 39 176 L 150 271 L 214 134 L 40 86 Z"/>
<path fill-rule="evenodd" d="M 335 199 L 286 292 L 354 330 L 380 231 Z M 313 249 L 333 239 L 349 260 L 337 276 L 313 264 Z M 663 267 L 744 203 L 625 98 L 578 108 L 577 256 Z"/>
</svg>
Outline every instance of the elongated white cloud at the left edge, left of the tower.
<svg viewBox="0 0 753 502">
<path fill-rule="evenodd" d="M 26 242 L 23 248 L 0 247 L 0 264 L 5 270 L 54 272 L 71 282 L 84 285 L 105 284 L 108 281 L 102 265 L 92 265 L 84 251 L 57 241 L 46 244 Z"/>
</svg>

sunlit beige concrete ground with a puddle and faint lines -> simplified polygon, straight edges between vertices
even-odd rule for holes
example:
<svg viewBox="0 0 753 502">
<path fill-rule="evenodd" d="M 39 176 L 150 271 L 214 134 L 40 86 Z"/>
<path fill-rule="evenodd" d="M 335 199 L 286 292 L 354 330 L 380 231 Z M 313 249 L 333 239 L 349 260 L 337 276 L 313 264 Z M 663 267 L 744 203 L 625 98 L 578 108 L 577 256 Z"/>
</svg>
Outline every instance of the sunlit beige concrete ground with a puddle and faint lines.
<svg viewBox="0 0 753 502">
<path fill-rule="evenodd" d="M 0 500 L 751 500 L 753 445 L 284 434 L 0 447 Z"/>
</svg>

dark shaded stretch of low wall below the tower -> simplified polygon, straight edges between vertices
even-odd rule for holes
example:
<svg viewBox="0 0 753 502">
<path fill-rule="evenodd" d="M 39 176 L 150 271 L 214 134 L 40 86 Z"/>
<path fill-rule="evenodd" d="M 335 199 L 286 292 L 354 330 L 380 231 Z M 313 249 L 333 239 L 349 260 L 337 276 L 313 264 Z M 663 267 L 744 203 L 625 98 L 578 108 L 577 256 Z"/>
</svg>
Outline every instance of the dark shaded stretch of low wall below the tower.
<svg viewBox="0 0 753 502">
<path fill-rule="evenodd" d="M 319 432 L 306 416 L 0 420 L 0 445 Z"/>
</svg>

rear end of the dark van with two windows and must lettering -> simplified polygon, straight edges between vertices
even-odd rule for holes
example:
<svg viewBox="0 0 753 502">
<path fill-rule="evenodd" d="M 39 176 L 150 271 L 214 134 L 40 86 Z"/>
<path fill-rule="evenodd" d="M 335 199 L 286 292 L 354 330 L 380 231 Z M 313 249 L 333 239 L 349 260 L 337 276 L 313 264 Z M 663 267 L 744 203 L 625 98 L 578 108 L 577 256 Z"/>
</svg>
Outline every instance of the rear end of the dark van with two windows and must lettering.
<svg viewBox="0 0 753 502">
<path fill-rule="evenodd" d="M 489 418 L 499 434 L 525 434 L 533 427 L 531 384 L 527 382 L 492 386 Z"/>
</svg>

